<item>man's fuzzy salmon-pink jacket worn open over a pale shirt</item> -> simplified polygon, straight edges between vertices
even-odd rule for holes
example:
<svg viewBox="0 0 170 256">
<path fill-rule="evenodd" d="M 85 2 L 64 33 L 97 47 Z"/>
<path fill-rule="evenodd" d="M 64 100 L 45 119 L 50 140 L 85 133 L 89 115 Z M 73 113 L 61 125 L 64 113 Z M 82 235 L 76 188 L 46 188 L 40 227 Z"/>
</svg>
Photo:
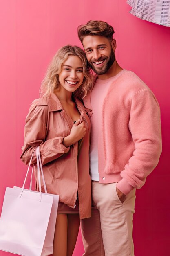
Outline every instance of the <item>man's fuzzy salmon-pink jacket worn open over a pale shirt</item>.
<svg viewBox="0 0 170 256">
<path fill-rule="evenodd" d="M 91 93 L 84 105 L 93 115 Z M 141 188 L 157 166 L 161 150 L 159 104 L 137 75 L 123 70 L 99 106 L 99 182 L 118 181 L 126 195 Z"/>
</svg>

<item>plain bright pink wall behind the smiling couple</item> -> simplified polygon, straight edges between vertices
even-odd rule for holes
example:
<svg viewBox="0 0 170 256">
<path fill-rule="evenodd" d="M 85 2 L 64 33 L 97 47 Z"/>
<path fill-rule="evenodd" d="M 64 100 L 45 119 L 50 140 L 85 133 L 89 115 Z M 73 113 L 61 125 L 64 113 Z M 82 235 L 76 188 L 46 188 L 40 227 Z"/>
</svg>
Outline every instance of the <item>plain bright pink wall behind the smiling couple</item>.
<svg viewBox="0 0 170 256">
<path fill-rule="evenodd" d="M 118 63 L 134 71 L 155 93 L 160 107 L 163 153 L 137 191 L 136 256 L 170 255 L 170 28 L 128 13 L 126 0 L 0 1 L 0 210 L 6 186 L 21 186 L 24 120 L 38 98 L 46 67 L 57 49 L 79 45 L 77 26 L 91 19 L 113 25 Z M 79 236 L 74 256 L 82 255 Z M 11 255 L 0 251 L 0 256 Z"/>
</svg>

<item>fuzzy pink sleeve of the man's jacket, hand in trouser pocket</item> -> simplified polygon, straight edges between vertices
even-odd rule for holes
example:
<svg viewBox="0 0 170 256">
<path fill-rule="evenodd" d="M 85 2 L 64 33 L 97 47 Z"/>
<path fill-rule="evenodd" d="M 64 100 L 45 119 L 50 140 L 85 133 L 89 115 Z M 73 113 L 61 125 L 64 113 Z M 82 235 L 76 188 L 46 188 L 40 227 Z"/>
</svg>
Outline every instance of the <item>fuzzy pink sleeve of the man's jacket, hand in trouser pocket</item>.
<svg viewBox="0 0 170 256">
<path fill-rule="evenodd" d="M 148 89 L 132 97 L 129 130 L 135 150 L 121 171 L 122 180 L 117 184 L 125 194 L 144 185 L 146 177 L 157 166 L 162 151 L 159 104 Z"/>
</svg>

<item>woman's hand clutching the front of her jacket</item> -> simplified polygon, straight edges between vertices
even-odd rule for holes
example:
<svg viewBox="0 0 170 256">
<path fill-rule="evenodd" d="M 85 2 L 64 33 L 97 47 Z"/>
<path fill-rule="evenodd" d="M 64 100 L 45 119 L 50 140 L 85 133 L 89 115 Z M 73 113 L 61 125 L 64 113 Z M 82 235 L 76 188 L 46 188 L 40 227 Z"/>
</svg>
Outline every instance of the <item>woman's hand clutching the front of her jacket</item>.
<svg viewBox="0 0 170 256">
<path fill-rule="evenodd" d="M 70 134 L 63 139 L 63 145 L 69 147 L 75 142 L 79 141 L 86 134 L 86 128 L 84 122 L 80 124 L 80 119 L 73 124 Z"/>
</svg>

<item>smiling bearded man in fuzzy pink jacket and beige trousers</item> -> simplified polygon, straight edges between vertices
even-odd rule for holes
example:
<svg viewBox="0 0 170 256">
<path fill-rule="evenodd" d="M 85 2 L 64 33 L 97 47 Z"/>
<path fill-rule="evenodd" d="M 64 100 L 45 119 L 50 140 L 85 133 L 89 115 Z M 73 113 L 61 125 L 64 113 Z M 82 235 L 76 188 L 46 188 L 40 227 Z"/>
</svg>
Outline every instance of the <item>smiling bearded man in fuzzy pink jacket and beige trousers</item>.
<svg viewBox="0 0 170 256">
<path fill-rule="evenodd" d="M 146 84 L 116 61 L 113 27 L 78 27 L 91 69 L 98 75 L 84 99 L 91 118 L 92 217 L 82 220 L 84 256 L 133 256 L 135 189 L 161 154 L 159 104 Z"/>
</svg>

